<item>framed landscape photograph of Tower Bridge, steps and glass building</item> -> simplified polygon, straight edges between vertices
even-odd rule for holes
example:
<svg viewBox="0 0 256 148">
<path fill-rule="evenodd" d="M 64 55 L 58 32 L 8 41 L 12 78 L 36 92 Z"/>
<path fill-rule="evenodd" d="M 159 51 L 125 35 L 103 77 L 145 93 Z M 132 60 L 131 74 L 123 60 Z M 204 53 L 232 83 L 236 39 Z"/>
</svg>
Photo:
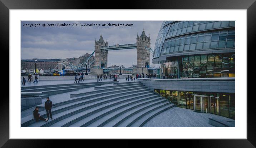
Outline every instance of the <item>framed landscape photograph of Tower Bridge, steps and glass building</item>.
<svg viewBox="0 0 256 148">
<path fill-rule="evenodd" d="M 20 127 L 234 128 L 235 33 L 222 19 L 20 20 Z"/>
</svg>

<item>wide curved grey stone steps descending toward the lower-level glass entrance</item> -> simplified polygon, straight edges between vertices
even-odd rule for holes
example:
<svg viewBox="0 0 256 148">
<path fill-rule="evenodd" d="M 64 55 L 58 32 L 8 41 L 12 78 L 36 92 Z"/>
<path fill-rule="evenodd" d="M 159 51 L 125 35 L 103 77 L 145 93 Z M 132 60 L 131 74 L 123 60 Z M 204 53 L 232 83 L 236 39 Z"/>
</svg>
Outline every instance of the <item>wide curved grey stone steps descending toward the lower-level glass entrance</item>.
<svg viewBox="0 0 256 148">
<path fill-rule="evenodd" d="M 63 102 L 53 102 L 53 120 L 36 122 L 29 115 L 21 118 L 21 127 L 142 127 L 154 116 L 174 107 L 141 82 L 114 83 L 94 89 L 70 94 L 70 99 Z M 42 105 L 38 107 L 43 109 Z M 47 117 L 45 110 L 39 114 Z"/>
</svg>

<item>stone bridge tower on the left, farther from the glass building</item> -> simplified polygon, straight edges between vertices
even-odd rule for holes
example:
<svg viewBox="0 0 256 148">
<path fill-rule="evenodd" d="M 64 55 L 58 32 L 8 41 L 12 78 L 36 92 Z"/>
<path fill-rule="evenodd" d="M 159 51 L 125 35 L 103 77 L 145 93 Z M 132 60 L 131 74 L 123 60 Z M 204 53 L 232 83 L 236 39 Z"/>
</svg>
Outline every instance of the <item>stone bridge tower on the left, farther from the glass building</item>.
<svg viewBox="0 0 256 148">
<path fill-rule="evenodd" d="M 95 50 L 95 61 L 94 61 L 94 67 L 95 68 L 107 68 L 108 67 L 108 51 L 104 49 L 100 49 L 102 46 L 108 46 L 108 40 L 105 43 L 103 40 L 102 35 L 100 35 L 100 38 L 98 41 L 94 42 L 94 50 Z"/>
</svg>

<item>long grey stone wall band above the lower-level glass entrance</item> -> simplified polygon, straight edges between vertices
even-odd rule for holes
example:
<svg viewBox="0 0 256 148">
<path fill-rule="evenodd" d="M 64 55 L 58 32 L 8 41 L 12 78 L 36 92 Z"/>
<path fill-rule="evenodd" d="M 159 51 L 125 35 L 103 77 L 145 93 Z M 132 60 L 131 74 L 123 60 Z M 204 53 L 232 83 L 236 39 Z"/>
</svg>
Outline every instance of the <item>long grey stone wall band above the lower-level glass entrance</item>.
<svg viewBox="0 0 256 148">
<path fill-rule="evenodd" d="M 138 78 L 149 89 L 187 92 L 235 93 L 235 78 L 146 79 Z"/>
</svg>

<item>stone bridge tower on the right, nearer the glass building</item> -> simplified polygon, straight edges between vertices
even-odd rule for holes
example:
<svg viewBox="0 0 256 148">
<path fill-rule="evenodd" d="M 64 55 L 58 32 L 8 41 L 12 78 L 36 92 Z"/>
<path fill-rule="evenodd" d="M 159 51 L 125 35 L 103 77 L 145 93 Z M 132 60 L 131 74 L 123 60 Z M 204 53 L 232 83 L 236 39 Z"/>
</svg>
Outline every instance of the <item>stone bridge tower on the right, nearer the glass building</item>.
<svg viewBox="0 0 256 148">
<path fill-rule="evenodd" d="M 150 53 L 145 46 L 150 48 L 150 37 L 143 29 L 141 36 L 137 33 L 137 67 L 149 67 Z"/>
</svg>

